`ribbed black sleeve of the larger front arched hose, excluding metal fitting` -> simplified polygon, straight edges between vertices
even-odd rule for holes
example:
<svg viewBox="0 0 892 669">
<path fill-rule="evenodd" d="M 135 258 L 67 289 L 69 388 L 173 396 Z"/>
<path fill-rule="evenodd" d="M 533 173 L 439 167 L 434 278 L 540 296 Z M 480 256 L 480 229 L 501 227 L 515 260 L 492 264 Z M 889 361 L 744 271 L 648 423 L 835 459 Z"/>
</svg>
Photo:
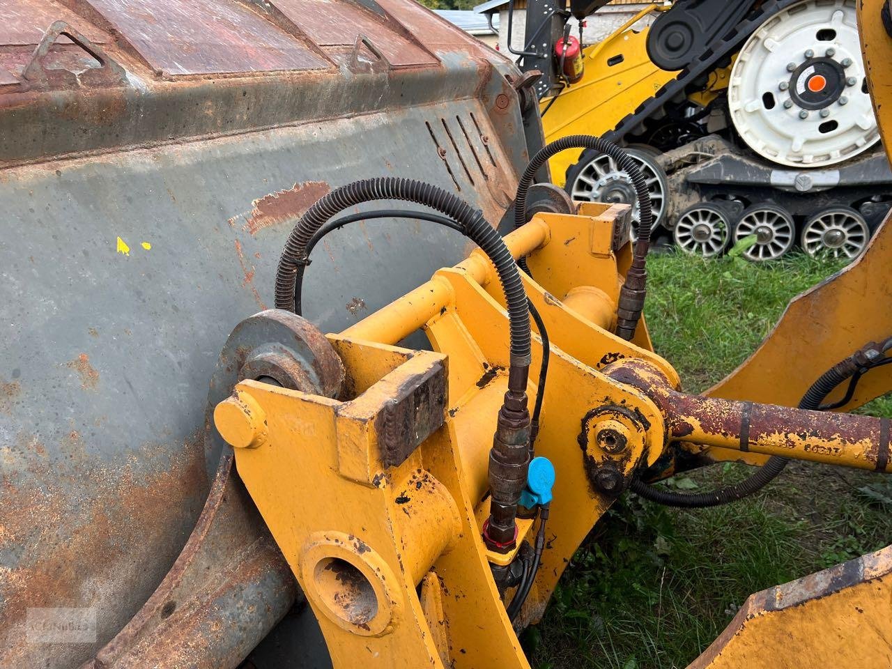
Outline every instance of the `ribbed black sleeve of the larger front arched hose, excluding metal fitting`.
<svg viewBox="0 0 892 669">
<path fill-rule="evenodd" d="M 530 316 L 524 285 L 514 258 L 499 233 L 486 222 L 483 212 L 449 191 L 423 181 L 408 178 L 382 177 L 355 181 L 336 188 L 318 200 L 294 226 L 276 273 L 276 307 L 301 313 L 300 292 L 303 271 L 309 260 L 307 245 L 318 229 L 335 214 L 363 202 L 402 200 L 423 204 L 440 211 L 461 225 L 465 235 L 477 244 L 495 265 L 505 301 L 511 338 L 511 364 L 520 368 L 530 365 Z M 524 375 L 518 376 L 518 382 Z M 524 381 L 525 384 L 525 381 Z"/>
</svg>

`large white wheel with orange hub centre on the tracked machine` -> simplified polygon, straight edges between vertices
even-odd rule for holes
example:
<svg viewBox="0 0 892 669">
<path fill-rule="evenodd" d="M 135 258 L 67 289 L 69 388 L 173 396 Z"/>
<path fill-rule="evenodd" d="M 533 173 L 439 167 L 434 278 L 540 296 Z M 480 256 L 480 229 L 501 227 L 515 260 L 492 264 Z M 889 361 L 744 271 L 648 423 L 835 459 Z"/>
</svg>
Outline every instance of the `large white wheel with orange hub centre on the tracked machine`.
<svg viewBox="0 0 892 669">
<path fill-rule="evenodd" d="M 842 95 L 823 109 L 805 109 L 798 94 L 812 85 L 814 66 L 806 61 L 815 59 L 827 61 L 818 67 L 838 64 Z M 791 74 L 788 65 L 797 70 Z M 740 50 L 728 88 L 731 119 L 747 145 L 770 161 L 794 167 L 845 161 L 880 139 L 865 77 L 855 0 L 805 0 L 765 21 Z"/>
</svg>

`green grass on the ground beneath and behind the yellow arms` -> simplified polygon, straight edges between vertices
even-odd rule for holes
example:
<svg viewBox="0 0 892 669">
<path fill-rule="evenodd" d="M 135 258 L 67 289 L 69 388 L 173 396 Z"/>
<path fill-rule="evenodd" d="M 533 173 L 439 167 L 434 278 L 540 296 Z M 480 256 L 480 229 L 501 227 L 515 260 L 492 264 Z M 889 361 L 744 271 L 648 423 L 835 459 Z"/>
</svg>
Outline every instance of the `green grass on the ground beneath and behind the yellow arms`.
<svg viewBox="0 0 892 669">
<path fill-rule="evenodd" d="M 655 348 L 688 390 L 702 391 L 755 350 L 793 295 L 836 269 L 804 254 L 764 266 L 655 256 L 646 310 Z M 892 401 L 865 411 L 892 416 Z M 707 490 L 747 470 L 715 466 L 673 484 Z M 670 509 L 626 494 L 577 551 L 524 646 L 536 669 L 684 667 L 750 593 L 887 545 L 890 511 L 888 478 L 805 463 L 725 507 Z"/>
</svg>

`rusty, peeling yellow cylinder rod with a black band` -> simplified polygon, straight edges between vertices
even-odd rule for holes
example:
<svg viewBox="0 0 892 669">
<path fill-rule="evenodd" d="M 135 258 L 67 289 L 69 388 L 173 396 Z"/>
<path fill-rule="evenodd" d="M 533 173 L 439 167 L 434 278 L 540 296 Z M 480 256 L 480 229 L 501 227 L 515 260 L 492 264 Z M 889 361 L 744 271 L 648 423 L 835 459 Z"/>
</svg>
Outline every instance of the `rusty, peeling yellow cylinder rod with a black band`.
<svg viewBox="0 0 892 669">
<path fill-rule="evenodd" d="M 616 363 L 609 376 L 633 385 L 665 416 L 666 443 L 689 442 L 783 458 L 892 473 L 889 420 L 772 404 L 722 400 L 674 390 L 640 360 Z"/>
</svg>

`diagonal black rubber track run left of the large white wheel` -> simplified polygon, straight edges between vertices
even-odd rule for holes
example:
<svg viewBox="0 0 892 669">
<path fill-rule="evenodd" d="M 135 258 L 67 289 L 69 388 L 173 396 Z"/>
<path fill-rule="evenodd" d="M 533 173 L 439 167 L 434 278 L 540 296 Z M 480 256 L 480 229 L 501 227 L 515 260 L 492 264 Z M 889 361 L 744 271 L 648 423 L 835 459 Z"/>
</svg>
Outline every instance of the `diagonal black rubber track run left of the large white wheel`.
<svg viewBox="0 0 892 669">
<path fill-rule="evenodd" d="M 698 55 L 695 62 L 679 72 L 678 77 L 667 82 L 657 91 L 656 95 L 645 100 L 638 109 L 621 120 L 616 128 L 604 135 L 604 138 L 611 142 L 621 143 L 624 136 L 634 128 L 638 128 L 645 120 L 662 111 L 666 104 L 680 96 L 686 97 L 687 88 L 695 79 L 713 71 L 717 62 L 737 51 L 747 40 L 747 37 L 756 32 L 765 21 L 799 2 L 801 0 L 767 0 L 761 4 L 749 13 L 745 21 L 741 21 L 724 37 L 720 37 L 709 45 L 706 51 Z"/>
</svg>

